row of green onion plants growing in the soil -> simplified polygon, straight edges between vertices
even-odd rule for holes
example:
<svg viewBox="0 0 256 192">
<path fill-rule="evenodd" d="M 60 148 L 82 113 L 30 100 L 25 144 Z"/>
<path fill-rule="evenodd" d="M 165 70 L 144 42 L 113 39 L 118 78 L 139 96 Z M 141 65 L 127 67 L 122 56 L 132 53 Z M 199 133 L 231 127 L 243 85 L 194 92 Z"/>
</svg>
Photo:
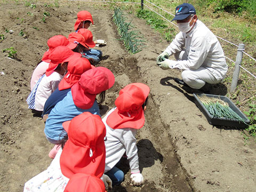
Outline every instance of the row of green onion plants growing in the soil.
<svg viewBox="0 0 256 192">
<path fill-rule="evenodd" d="M 121 36 L 125 49 L 131 54 L 138 53 L 143 48 L 144 39 L 139 35 L 139 31 L 132 30 L 134 26 L 131 22 L 127 23 L 123 17 L 123 12 L 119 8 L 114 8 L 113 21 L 117 26 L 118 34 Z"/>
</svg>

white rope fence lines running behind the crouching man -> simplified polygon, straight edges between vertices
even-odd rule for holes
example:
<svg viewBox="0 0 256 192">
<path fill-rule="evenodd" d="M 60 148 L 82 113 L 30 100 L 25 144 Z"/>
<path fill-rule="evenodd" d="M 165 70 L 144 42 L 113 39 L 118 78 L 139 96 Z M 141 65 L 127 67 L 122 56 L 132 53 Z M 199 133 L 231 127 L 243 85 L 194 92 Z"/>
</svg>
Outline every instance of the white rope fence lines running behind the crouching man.
<svg viewBox="0 0 256 192">
<path fill-rule="evenodd" d="M 150 6 L 148 6 L 148 5 L 146 5 L 145 3 L 143 3 L 143 1 L 141 1 L 141 3 L 139 3 L 139 2 L 127 2 L 127 1 L 125 1 L 125 2 L 120 2 L 120 1 L 93 1 L 93 0 L 92 0 L 92 1 L 90 1 L 90 0 L 68 0 L 68 1 L 73 1 L 73 2 L 97 2 L 97 3 L 130 3 L 130 4 L 141 4 L 141 6 L 147 7 L 147 9 L 153 11 L 154 13 L 156 13 L 157 15 L 159 15 L 160 17 L 162 17 L 162 18 L 165 19 L 166 21 L 170 22 L 170 23 L 171 23 L 172 25 L 174 25 L 175 27 L 178 27 L 177 25 L 175 25 L 175 23 L 173 23 L 173 22 L 170 21 L 169 19 L 165 18 L 163 15 L 161 15 L 160 13 L 158 13 L 157 11 L 155 11 L 155 10 L 154 10 L 153 8 L 151 8 Z M 160 9 L 160 10 L 162 10 L 162 11 L 168 13 L 168 14 L 171 14 L 173 17 L 175 16 L 174 14 L 170 13 L 169 11 L 164 10 L 162 7 L 159 7 L 159 6 L 155 5 L 154 3 L 149 2 L 148 0 L 145 0 L 145 2 L 148 2 L 149 4 L 151 4 L 151 5 L 155 6 L 155 7 L 157 7 L 157 9 Z M 225 42 L 227 42 L 227 43 L 229 43 L 229 44 L 231 44 L 231 45 L 234 45 L 234 46 L 238 47 L 238 45 L 236 45 L 235 43 L 232 43 L 232 42 L 228 41 L 227 39 L 221 38 L 221 37 L 219 37 L 219 36 L 217 36 L 217 35 L 215 35 L 215 36 L 216 36 L 217 38 L 221 39 L 222 41 L 225 41 Z M 244 51 L 242 51 L 242 52 L 243 52 L 245 55 L 247 55 L 249 58 L 251 58 L 252 60 L 256 61 L 256 59 L 253 58 L 250 54 L 248 54 L 248 53 L 246 53 L 246 52 L 244 52 Z M 235 61 L 231 60 L 230 58 L 228 58 L 228 57 L 226 57 L 226 56 L 225 56 L 225 58 L 228 59 L 229 61 L 233 62 L 233 63 L 236 63 Z M 245 68 L 242 67 L 241 65 L 239 65 L 239 67 L 242 68 L 243 70 L 245 70 L 245 71 L 246 71 L 247 73 L 249 73 L 250 75 L 252 75 L 254 78 L 256 78 L 256 76 L 253 75 L 249 70 L 245 69 Z"/>
</svg>

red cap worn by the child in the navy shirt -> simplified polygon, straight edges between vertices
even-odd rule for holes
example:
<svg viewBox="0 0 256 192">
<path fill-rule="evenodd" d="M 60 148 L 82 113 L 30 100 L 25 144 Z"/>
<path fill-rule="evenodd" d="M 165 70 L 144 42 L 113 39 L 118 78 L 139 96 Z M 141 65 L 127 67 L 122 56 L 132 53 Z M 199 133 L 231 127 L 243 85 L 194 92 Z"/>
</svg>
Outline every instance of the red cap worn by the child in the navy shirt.
<svg viewBox="0 0 256 192">
<path fill-rule="evenodd" d="M 86 58 L 75 58 L 68 62 L 68 72 L 59 83 L 59 90 L 66 90 L 71 88 L 81 75 L 86 71 L 92 69 L 90 61 Z"/>
</svg>

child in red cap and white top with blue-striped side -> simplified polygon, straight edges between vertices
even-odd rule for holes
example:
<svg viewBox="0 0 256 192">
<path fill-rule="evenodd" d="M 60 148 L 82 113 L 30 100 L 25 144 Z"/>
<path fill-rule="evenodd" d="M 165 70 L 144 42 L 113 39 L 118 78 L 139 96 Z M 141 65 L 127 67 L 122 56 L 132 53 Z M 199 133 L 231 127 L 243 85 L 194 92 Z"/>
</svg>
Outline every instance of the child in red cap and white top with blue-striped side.
<svg viewBox="0 0 256 192">
<path fill-rule="evenodd" d="M 66 46 L 58 46 L 52 50 L 49 54 L 51 62 L 45 75 L 41 77 L 42 79 L 37 82 L 28 96 L 28 108 L 33 109 L 34 113 L 42 114 L 45 101 L 57 89 L 67 71 L 68 61 L 77 57 L 81 57 L 81 54 L 71 51 Z"/>
</svg>

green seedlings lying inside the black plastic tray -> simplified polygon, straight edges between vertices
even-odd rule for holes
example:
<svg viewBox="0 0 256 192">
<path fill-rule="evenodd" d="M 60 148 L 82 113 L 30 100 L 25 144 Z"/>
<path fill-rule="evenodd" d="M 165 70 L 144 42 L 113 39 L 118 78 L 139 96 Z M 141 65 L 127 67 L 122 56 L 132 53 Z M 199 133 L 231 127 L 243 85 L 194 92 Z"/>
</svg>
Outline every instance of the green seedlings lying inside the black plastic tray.
<svg viewBox="0 0 256 192">
<path fill-rule="evenodd" d="M 240 117 L 233 109 L 228 106 L 228 103 L 221 99 L 215 98 L 215 100 L 202 102 L 204 107 L 208 110 L 213 118 L 225 118 L 232 121 L 238 121 L 239 123 L 247 124 L 244 118 Z"/>
</svg>

